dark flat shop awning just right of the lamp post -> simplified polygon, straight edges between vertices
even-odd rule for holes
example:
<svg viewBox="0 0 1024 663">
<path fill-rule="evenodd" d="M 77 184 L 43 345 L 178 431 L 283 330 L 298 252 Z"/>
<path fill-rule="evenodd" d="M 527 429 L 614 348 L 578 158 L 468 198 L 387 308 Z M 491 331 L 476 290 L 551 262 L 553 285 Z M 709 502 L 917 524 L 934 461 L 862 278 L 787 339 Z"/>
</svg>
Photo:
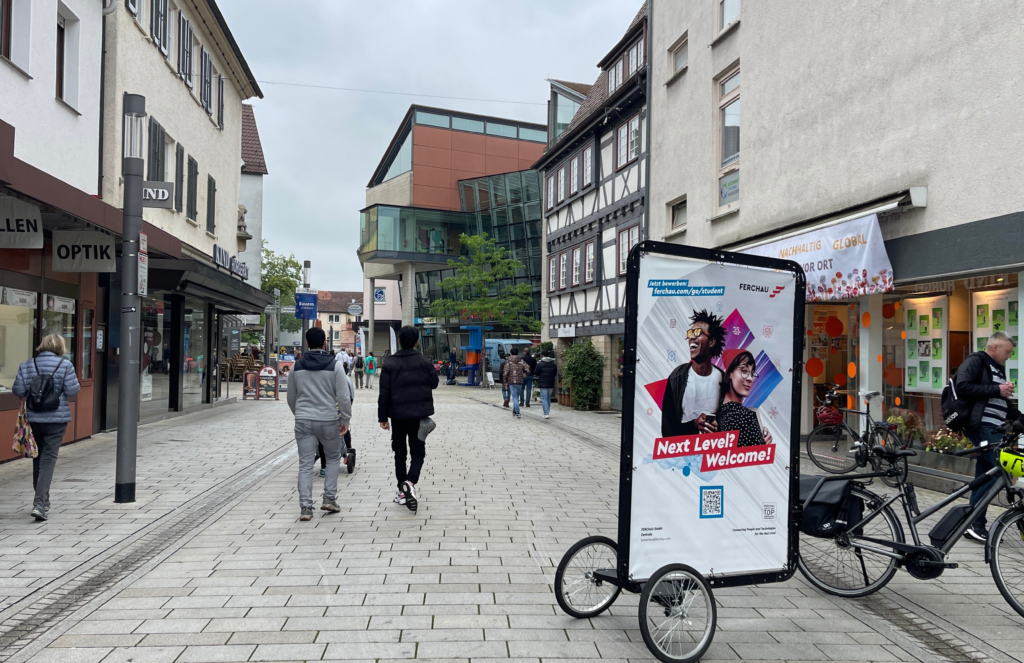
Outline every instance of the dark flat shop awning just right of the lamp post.
<svg viewBox="0 0 1024 663">
<path fill-rule="evenodd" d="M 222 313 L 258 315 L 273 295 L 220 270 L 190 259 L 150 260 L 150 287 L 213 302 Z"/>
</svg>

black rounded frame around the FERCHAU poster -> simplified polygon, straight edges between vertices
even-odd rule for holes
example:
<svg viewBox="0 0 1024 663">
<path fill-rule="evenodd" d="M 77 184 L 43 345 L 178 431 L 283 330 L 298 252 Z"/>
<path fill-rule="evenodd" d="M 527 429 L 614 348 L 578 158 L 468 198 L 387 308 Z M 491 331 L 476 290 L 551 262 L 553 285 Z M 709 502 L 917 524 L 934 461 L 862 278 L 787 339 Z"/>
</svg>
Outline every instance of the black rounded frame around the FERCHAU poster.
<svg viewBox="0 0 1024 663">
<path fill-rule="evenodd" d="M 790 503 L 788 532 L 786 546 L 786 566 L 778 571 L 758 572 L 751 574 L 733 574 L 709 576 L 708 582 L 713 587 L 734 587 L 750 584 L 767 584 L 784 582 L 797 571 L 799 550 L 800 516 L 800 422 L 801 395 L 804 375 L 804 293 L 807 290 L 807 279 L 799 263 L 793 260 L 769 258 L 748 253 L 733 253 L 718 249 L 705 249 L 694 246 L 670 244 L 645 240 L 630 251 L 626 272 L 626 339 L 623 356 L 623 423 L 620 440 L 618 463 L 618 542 L 616 572 L 621 586 L 633 592 L 643 588 L 647 578 L 634 579 L 630 577 L 630 531 L 633 506 L 633 470 L 634 470 L 634 406 L 636 401 L 636 363 L 637 334 L 639 326 L 640 299 L 640 260 L 644 255 L 667 255 L 671 257 L 703 260 L 709 263 L 726 263 L 743 266 L 776 270 L 794 275 L 797 285 L 797 295 L 794 298 L 793 313 L 793 395 L 792 415 L 790 422 Z M 685 558 L 675 561 L 687 564 Z"/>
</svg>

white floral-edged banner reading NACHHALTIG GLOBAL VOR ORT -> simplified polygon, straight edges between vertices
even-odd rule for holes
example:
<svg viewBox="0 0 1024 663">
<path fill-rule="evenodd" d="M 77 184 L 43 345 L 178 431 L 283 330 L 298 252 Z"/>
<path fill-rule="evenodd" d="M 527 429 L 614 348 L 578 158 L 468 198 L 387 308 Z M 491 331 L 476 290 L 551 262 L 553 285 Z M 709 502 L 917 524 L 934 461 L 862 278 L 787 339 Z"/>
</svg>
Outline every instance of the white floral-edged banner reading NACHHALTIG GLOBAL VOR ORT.
<svg viewBox="0 0 1024 663">
<path fill-rule="evenodd" d="M 893 265 L 874 214 L 742 252 L 799 262 L 807 275 L 807 301 L 853 299 L 893 289 Z"/>
</svg>

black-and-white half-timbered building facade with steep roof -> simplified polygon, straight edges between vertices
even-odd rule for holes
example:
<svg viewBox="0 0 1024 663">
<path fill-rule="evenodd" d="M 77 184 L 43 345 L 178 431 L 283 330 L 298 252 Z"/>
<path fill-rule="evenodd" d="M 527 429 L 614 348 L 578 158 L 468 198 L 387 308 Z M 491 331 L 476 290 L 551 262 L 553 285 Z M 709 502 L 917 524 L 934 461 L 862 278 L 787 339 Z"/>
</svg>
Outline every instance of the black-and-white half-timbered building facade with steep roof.
<svg viewBox="0 0 1024 663">
<path fill-rule="evenodd" d="M 567 123 L 559 110 L 572 110 L 566 90 L 581 86 L 552 82 L 557 137 L 534 164 L 544 173 L 543 339 L 594 342 L 605 358 L 602 409 L 622 409 L 626 258 L 645 237 L 646 35 L 644 5 Z"/>
</svg>

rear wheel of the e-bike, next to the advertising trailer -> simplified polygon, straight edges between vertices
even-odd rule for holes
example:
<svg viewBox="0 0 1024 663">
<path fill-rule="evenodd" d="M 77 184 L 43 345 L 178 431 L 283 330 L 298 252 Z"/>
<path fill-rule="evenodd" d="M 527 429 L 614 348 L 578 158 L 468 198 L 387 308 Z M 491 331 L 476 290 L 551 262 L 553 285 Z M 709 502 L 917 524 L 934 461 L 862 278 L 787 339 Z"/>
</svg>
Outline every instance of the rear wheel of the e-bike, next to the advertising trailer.
<svg viewBox="0 0 1024 663">
<path fill-rule="evenodd" d="M 854 488 L 850 499 L 860 500 L 866 515 L 884 503 L 883 498 Z M 853 598 L 878 591 L 896 575 L 896 560 L 857 546 L 857 537 L 903 543 L 903 527 L 892 508 L 885 507 L 859 531 L 830 537 L 800 533 L 797 565 L 808 582 L 825 593 Z M 885 549 L 879 543 L 868 544 Z"/>
</svg>

